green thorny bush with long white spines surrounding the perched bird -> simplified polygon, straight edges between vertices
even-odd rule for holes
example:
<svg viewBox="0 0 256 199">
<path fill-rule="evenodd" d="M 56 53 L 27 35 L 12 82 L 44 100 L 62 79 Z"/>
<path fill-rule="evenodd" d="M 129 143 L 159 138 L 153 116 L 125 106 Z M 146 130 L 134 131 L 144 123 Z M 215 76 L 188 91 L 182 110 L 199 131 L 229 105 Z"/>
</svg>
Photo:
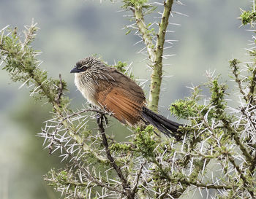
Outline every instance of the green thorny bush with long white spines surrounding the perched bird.
<svg viewBox="0 0 256 199">
<path fill-rule="evenodd" d="M 162 64 L 161 54 L 173 1 L 162 4 L 157 35 L 145 22 L 151 5 L 145 1 L 125 0 L 124 3 L 132 7 L 151 61 L 149 65 L 157 69 L 156 61 Z M 253 6 L 255 8 L 255 3 Z M 255 10 L 244 14 L 249 19 L 254 16 Z M 248 18 L 243 19 L 246 21 Z M 255 26 L 255 22 L 250 23 Z M 17 28 L 7 34 L 5 29 L 0 31 L 3 69 L 10 73 L 13 81 L 30 86 L 33 97 L 53 106 L 53 118 L 45 122 L 45 129 L 39 136 L 45 138 L 50 154 L 59 149 L 63 160 L 70 161 L 68 172 L 52 172 L 46 178 L 57 190 L 61 187 L 67 198 L 178 198 L 184 196 L 189 187 L 199 191 L 201 188 L 216 190 L 212 198 L 255 198 L 255 62 L 250 62 L 251 66 L 246 63 L 248 67 L 244 70 L 248 75 L 244 79 L 239 78 L 241 70 L 238 71 L 237 62 L 234 62 L 233 74 L 244 98 L 238 108 L 233 108 L 234 113 L 227 111 L 230 107 L 220 95 L 225 88 L 216 84 L 213 89 L 216 79 L 210 79 L 207 84 L 211 97 L 204 104 L 200 103 L 201 95 L 193 90 L 192 98 L 180 100 L 173 106 L 179 117 L 191 122 L 182 129 L 186 133 L 182 144 L 171 138 L 154 140 L 150 127 L 136 129 L 127 142 L 109 144 L 110 138 L 105 135 L 103 126 L 106 113 L 97 109 L 72 112 L 69 98 L 64 95 L 66 83 L 61 76 L 51 79 L 39 69 L 40 62 L 36 58 L 39 53 L 30 46 L 36 36 L 36 24 L 26 27 L 23 42 Z M 255 36 L 253 38 L 255 41 Z M 255 42 L 252 46 L 249 52 L 255 61 Z M 162 69 L 159 69 L 157 78 L 161 79 Z M 214 101 L 214 105 L 208 101 Z M 89 115 L 85 113 L 88 112 L 100 115 L 97 135 L 86 126 Z M 218 169 L 212 171 L 212 165 L 214 170 Z"/>
</svg>

